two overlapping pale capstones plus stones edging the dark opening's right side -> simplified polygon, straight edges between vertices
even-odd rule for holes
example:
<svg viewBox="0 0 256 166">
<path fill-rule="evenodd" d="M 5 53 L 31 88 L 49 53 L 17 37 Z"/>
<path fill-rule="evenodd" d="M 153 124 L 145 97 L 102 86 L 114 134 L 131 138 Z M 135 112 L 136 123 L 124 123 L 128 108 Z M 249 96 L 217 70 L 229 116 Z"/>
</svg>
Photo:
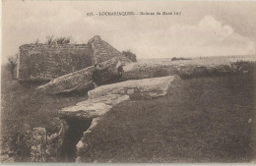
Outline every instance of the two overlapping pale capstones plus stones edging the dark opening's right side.
<svg viewBox="0 0 256 166">
<path fill-rule="evenodd" d="M 169 76 L 101 85 L 89 91 L 88 100 L 59 110 L 59 116 L 65 120 L 92 120 L 91 126 L 84 131 L 83 137 L 76 145 L 76 162 L 81 162 L 83 150 L 87 147 L 86 138 L 96 128 L 102 115 L 110 111 L 113 106 L 129 100 L 130 96 L 154 98 L 165 95 L 171 83 L 178 78 L 178 76 Z"/>
</svg>

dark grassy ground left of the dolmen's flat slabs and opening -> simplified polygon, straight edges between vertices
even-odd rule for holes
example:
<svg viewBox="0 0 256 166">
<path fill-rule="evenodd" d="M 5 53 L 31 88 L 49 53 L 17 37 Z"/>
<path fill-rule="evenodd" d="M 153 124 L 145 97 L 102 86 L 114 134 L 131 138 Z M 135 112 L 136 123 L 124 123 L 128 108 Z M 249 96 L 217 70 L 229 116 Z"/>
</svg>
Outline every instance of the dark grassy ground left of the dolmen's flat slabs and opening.
<svg viewBox="0 0 256 166">
<path fill-rule="evenodd" d="M 1 78 L 1 137 L 3 146 L 18 151 L 17 161 L 28 161 L 28 156 L 21 156 L 22 144 L 18 136 L 35 127 L 51 130 L 51 121 L 60 108 L 71 106 L 87 99 L 87 94 L 46 95 L 35 90 L 43 83 L 19 83 L 12 80 L 9 72 L 2 68 Z M 21 142 L 22 143 L 22 142 Z M 19 149 L 20 148 L 20 149 Z"/>
</svg>

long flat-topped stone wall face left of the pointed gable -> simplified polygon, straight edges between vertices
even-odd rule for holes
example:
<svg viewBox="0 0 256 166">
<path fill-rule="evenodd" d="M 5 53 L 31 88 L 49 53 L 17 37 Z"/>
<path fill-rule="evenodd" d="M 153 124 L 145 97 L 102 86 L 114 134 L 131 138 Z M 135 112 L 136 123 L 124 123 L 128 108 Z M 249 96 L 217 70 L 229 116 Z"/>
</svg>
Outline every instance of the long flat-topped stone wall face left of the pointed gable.
<svg viewBox="0 0 256 166">
<path fill-rule="evenodd" d="M 26 44 L 20 47 L 18 79 L 52 80 L 93 65 L 93 50 L 86 44 Z"/>
</svg>

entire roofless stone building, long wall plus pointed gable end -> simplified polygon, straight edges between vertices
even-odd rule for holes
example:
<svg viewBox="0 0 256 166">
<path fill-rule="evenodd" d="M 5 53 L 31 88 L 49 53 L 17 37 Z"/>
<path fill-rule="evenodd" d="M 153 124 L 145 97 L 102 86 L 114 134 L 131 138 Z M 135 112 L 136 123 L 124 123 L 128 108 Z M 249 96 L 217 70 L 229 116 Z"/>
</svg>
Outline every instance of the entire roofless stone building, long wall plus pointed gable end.
<svg viewBox="0 0 256 166">
<path fill-rule="evenodd" d="M 24 44 L 20 46 L 20 81 L 49 81 L 122 54 L 99 36 L 87 44 Z"/>
</svg>

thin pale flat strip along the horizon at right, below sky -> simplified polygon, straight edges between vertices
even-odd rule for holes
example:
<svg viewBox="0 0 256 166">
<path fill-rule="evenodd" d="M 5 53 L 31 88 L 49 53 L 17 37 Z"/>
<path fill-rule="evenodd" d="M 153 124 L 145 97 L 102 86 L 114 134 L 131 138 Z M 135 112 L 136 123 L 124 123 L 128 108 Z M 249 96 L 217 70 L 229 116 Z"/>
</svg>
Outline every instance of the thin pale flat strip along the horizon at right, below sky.
<svg viewBox="0 0 256 166">
<path fill-rule="evenodd" d="M 193 65 L 229 65 L 230 62 L 236 61 L 254 61 L 256 62 L 256 55 L 237 55 L 237 56 L 212 56 L 212 57 L 196 57 L 191 60 L 171 61 L 171 58 L 154 58 L 154 59 L 138 59 L 139 63 L 146 64 L 193 64 Z"/>
</svg>

